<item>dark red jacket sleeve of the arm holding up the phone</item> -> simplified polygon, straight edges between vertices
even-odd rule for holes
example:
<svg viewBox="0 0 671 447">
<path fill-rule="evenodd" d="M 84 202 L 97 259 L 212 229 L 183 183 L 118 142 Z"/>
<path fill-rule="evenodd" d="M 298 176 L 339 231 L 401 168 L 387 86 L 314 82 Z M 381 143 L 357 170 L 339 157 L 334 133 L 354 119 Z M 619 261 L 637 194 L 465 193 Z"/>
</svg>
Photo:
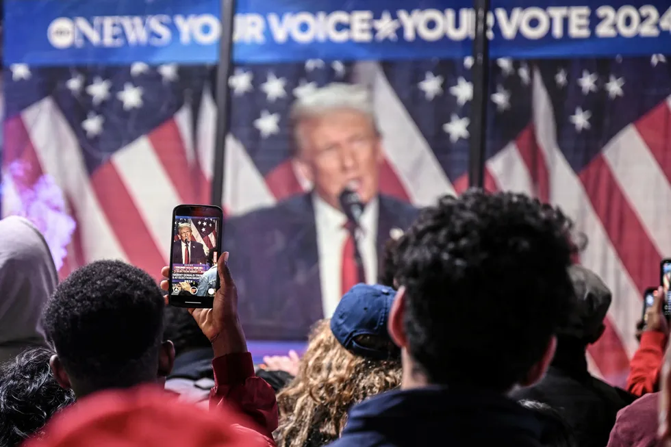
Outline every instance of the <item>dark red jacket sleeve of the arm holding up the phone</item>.
<svg viewBox="0 0 671 447">
<path fill-rule="evenodd" d="M 268 445 L 275 446 L 273 431 L 277 429 L 277 400 L 275 391 L 254 374 L 250 353 L 229 354 L 212 361 L 214 387 L 210 392 L 210 408 L 218 405 L 233 407 L 256 424 L 245 426 L 261 433 Z M 244 425 L 244 424 L 243 424 Z"/>
</svg>

